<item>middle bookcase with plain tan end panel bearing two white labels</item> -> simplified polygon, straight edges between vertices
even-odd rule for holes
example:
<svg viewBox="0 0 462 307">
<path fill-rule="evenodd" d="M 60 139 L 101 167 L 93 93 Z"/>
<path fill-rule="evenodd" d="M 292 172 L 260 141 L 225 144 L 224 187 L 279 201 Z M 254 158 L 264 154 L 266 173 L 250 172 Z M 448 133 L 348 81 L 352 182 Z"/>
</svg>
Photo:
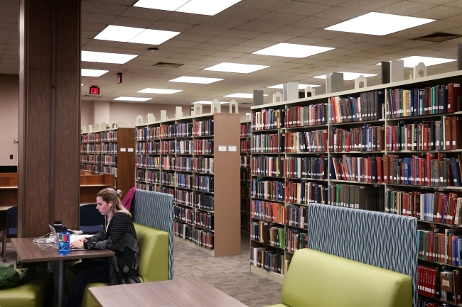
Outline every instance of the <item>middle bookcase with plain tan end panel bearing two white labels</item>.
<svg viewBox="0 0 462 307">
<path fill-rule="evenodd" d="M 136 125 L 136 187 L 172 194 L 174 234 L 213 256 L 240 255 L 240 114 Z"/>
</svg>

